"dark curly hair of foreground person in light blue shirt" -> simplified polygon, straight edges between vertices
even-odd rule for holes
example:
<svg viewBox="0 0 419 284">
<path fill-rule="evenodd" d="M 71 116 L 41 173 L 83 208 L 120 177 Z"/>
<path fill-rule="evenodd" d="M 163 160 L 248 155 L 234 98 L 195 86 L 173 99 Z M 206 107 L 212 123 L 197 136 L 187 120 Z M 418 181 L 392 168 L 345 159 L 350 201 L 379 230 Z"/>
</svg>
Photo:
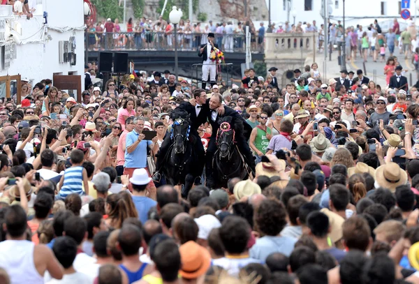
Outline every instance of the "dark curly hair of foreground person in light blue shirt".
<svg viewBox="0 0 419 284">
<path fill-rule="evenodd" d="M 263 200 L 256 211 L 258 229 L 268 236 L 276 236 L 286 225 L 286 209 L 277 200 Z"/>
</svg>

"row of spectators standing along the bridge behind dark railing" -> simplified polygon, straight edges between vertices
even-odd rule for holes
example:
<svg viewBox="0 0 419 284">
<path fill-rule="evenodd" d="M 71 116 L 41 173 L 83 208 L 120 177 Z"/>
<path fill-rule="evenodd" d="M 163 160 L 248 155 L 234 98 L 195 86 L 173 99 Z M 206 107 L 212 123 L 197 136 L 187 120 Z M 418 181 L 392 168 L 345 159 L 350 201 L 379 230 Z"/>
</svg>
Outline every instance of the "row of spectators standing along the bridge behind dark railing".
<svg viewBox="0 0 419 284">
<path fill-rule="evenodd" d="M 255 27 L 251 20 L 245 19 L 237 23 L 213 23 L 210 20 L 206 24 L 182 19 L 176 27 L 177 46 L 179 50 L 198 50 L 201 44 L 207 43 L 207 34 L 215 33 L 215 42 L 222 50 L 243 51 L 245 22 L 249 22 L 251 50 L 262 51 L 265 37 L 263 22 Z M 88 47 L 90 50 L 173 50 L 174 29 L 175 26 L 161 16 L 158 20 L 142 17 L 135 21 L 129 18 L 126 24 L 108 18 L 89 27 Z"/>
</svg>

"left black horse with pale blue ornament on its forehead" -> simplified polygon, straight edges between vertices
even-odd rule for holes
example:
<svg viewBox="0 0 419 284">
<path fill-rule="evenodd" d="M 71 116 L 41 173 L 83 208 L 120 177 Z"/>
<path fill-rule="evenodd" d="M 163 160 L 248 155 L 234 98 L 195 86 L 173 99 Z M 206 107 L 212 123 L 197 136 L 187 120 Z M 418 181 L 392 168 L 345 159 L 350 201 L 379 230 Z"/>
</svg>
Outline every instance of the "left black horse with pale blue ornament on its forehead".
<svg viewBox="0 0 419 284">
<path fill-rule="evenodd" d="M 166 157 L 166 166 L 163 166 L 163 174 L 168 184 L 173 186 L 182 184 L 182 197 L 187 197 L 196 177 L 200 177 L 202 172 L 198 172 L 198 158 L 193 150 L 192 137 L 189 136 L 191 124 L 189 114 L 184 110 L 175 110 L 171 118 L 174 121 L 170 133 L 170 148 Z M 202 163 L 202 162 L 201 162 Z"/>
</svg>

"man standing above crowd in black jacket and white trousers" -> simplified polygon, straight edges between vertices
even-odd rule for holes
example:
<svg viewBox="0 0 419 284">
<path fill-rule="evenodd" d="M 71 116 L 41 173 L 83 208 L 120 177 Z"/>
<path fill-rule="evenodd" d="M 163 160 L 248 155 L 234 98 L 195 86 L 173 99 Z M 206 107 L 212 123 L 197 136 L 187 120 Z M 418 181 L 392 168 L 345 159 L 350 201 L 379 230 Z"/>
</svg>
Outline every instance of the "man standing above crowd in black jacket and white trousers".
<svg viewBox="0 0 419 284">
<path fill-rule="evenodd" d="M 211 85 L 216 83 L 216 62 L 211 60 L 211 52 L 214 48 L 219 48 L 214 44 L 214 33 L 208 33 L 208 42 L 201 45 L 198 51 L 198 57 L 203 58 L 203 89 L 207 87 L 208 76 L 210 76 Z"/>
</svg>

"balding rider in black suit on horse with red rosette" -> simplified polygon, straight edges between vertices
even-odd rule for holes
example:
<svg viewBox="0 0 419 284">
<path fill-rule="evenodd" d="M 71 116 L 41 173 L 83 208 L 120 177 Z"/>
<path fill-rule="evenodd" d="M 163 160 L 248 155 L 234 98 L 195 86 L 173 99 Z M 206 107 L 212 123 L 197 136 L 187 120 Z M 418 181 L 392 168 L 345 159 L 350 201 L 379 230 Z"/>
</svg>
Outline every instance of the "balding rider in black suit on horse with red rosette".
<svg viewBox="0 0 419 284">
<path fill-rule="evenodd" d="M 222 97 L 219 94 L 214 94 L 211 97 L 210 102 L 208 103 L 208 106 L 210 108 L 210 111 L 208 112 L 208 121 L 210 122 L 212 126 L 212 135 L 210 143 L 207 147 L 207 154 L 206 154 L 206 163 L 205 163 L 205 172 L 207 175 L 207 186 L 208 184 L 213 184 L 212 180 L 212 158 L 214 156 L 214 153 L 216 151 L 216 133 L 219 130 L 220 124 L 219 124 L 219 118 L 221 117 L 233 117 L 233 119 L 241 119 L 243 121 L 244 125 L 244 139 L 241 137 L 236 140 L 237 147 L 239 148 L 240 152 L 246 159 L 247 165 L 251 168 L 252 172 L 255 172 L 256 163 L 253 157 L 253 154 L 251 154 L 251 150 L 249 147 L 249 144 L 247 143 L 247 140 L 249 140 L 250 134 L 251 134 L 251 126 L 247 124 L 247 122 L 243 119 L 243 117 L 240 116 L 238 112 L 233 110 L 230 107 L 224 107 L 224 114 L 219 115 L 217 112 L 217 109 L 221 106 Z M 214 121 L 215 119 L 215 121 Z"/>
</svg>

